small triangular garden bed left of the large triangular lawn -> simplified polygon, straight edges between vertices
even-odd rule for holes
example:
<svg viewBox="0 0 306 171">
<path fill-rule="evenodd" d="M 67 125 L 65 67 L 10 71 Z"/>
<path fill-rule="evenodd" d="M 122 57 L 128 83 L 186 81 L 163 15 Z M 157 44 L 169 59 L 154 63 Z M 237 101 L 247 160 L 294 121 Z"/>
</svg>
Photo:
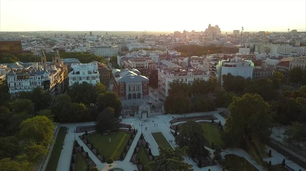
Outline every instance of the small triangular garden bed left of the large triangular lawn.
<svg viewBox="0 0 306 171">
<path fill-rule="evenodd" d="M 79 171 L 77 169 L 77 166 L 79 167 L 79 165 L 81 165 L 82 163 L 82 167 L 85 164 L 84 161 L 79 161 L 78 163 L 78 153 L 80 153 L 82 155 L 82 157 L 84 157 L 84 159 L 87 162 L 86 168 L 92 168 L 95 167 L 96 164 L 92 161 L 92 159 L 89 157 L 88 152 L 84 151 L 83 146 L 81 147 L 78 143 L 78 141 L 74 141 L 73 143 L 73 149 L 72 149 L 72 157 L 71 157 L 71 162 L 70 162 L 70 171 Z M 84 166 L 85 167 L 85 166 Z"/>
</svg>

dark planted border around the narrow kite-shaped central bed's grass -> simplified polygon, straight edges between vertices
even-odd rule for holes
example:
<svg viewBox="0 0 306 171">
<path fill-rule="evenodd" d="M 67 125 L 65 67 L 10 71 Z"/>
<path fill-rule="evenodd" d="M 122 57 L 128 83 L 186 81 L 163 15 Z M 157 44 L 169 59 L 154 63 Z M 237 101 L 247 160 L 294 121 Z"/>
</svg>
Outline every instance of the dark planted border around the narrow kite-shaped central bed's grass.
<svg viewBox="0 0 306 171">
<path fill-rule="evenodd" d="M 144 140 L 143 134 L 141 134 L 140 138 L 139 138 L 139 140 L 137 142 L 137 146 L 135 147 L 133 155 L 132 155 L 132 157 L 130 159 L 130 162 L 136 164 L 138 170 L 142 171 L 143 165 L 142 165 L 142 163 L 138 164 L 138 161 L 137 161 L 137 156 L 138 156 L 138 151 L 140 149 L 140 146 L 144 147 L 145 152 L 148 155 L 148 158 L 149 158 L 150 161 L 154 160 L 154 155 L 152 155 L 151 149 L 148 148 L 148 143 Z"/>
</svg>

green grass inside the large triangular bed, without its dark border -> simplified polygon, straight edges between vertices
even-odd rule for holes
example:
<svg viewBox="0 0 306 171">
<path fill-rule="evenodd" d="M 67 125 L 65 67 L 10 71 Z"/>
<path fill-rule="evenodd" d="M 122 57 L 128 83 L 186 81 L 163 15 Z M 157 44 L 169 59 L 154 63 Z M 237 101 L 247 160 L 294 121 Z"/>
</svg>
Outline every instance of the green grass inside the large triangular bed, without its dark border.
<svg viewBox="0 0 306 171">
<path fill-rule="evenodd" d="M 126 131 L 118 131 L 115 134 L 101 135 L 100 133 L 92 134 L 88 137 L 90 143 L 94 148 L 97 148 L 99 152 L 106 158 L 120 157 L 124 146 L 127 141 L 131 139 L 131 133 Z M 111 138 L 112 142 L 109 142 Z"/>
</svg>

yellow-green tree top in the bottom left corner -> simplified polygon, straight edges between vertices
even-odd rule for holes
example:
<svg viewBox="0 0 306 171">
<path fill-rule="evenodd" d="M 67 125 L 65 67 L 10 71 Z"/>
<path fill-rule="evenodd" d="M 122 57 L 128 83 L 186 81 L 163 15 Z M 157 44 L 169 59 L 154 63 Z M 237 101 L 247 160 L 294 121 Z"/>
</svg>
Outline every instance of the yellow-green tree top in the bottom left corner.
<svg viewBox="0 0 306 171">
<path fill-rule="evenodd" d="M 1 171 L 33 171 L 34 165 L 29 161 L 16 161 L 10 158 L 0 160 Z"/>
</svg>

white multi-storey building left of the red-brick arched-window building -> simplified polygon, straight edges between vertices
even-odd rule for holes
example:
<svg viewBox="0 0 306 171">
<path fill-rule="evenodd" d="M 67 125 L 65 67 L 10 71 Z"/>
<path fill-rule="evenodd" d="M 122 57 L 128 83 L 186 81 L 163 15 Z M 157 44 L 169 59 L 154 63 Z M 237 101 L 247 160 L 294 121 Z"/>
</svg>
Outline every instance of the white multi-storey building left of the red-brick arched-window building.
<svg viewBox="0 0 306 171">
<path fill-rule="evenodd" d="M 98 65 L 96 62 L 91 63 L 72 63 L 71 71 L 68 74 L 69 86 L 74 83 L 82 84 L 82 82 L 87 82 L 88 84 L 95 85 L 100 82 Z"/>
</svg>

